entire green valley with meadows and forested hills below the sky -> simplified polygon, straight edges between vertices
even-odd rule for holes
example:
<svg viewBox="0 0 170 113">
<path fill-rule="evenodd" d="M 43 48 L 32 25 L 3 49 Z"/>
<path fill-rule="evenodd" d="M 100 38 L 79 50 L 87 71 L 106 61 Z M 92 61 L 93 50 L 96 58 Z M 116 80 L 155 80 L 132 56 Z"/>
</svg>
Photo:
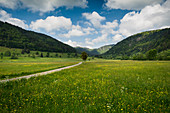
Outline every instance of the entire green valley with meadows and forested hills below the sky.
<svg viewBox="0 0 170 113">
<path fill-rule="evenodd" d="M 170 28 L 89 49 L 0 22 L 0 112 L 166 113 L 169 60 Z"/>
</svg>

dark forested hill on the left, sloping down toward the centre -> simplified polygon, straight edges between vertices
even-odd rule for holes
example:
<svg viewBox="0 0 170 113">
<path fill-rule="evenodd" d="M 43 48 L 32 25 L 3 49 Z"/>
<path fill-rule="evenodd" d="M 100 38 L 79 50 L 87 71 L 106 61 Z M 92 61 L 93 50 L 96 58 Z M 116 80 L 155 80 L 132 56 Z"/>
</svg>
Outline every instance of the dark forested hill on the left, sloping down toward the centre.
<svg viewBox="0 0 170 113">
<path fill-rule="evenodd" d="M 0 21 L 0 46 L 35 51 L 75 53 L 76 49 L 50 36 Z"/>
</svg>

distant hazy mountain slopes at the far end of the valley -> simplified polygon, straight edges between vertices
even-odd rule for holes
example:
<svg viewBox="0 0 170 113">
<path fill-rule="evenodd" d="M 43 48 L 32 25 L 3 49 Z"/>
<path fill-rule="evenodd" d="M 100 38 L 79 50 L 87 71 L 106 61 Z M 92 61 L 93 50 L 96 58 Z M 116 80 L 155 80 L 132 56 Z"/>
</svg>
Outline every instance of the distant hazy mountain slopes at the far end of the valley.
<svg viewBox="0 0 170 113">
<path fill-rule="evenodd" d="M 88 55 L 100 55 L 105 52 L 107 52 L 111 47 L 113 47 L 114 44 L 112 45 L 105 45 L 97 49 L 89 49 L 89 48 L 83 48 L 83 47 L 76 47 L 76 50 L 78 53 L 82 53 L 83 51 L 86 52 Z"/>
</svg>

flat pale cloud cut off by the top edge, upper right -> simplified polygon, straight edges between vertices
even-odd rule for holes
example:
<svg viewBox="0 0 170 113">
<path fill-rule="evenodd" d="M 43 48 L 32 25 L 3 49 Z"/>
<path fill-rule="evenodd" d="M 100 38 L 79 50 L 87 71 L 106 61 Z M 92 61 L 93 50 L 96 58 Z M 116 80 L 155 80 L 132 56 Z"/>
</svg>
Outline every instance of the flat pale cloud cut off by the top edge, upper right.
<svg viewBox="0 0 170 113">
<path fill-rule="evenodd" d="M 163 2 L 164 0 L 107 0 L 105 5 L 110 9 L 141 10 L 148 5 Z"/>
</svg>

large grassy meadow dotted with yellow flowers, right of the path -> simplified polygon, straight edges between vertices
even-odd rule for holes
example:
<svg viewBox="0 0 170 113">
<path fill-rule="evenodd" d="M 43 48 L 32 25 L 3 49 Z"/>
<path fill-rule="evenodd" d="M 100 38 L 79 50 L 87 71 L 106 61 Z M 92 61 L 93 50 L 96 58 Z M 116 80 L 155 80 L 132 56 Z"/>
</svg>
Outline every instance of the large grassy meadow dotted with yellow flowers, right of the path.
<svg viewBox="0 0 170 113">
<path fill-rule="evenodd" d="M 1 112 L 169 112 L 170 62 L 87 62 L 0 84 Z"/>
</svg>

